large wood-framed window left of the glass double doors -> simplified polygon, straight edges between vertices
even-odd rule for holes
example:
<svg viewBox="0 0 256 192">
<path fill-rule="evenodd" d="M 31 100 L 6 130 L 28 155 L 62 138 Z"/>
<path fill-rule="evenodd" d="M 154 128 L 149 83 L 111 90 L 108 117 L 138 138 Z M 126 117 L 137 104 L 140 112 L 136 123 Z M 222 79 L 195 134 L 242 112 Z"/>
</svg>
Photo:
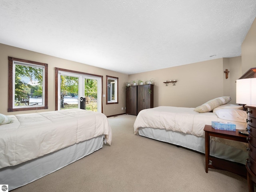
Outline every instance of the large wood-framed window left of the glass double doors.
<svg viewBox="0 0 256 192">
<path fill-rule="evenodd" d="M 8 112 L 48 109 L 48 64 L 8 57 Z"/>
</svg>

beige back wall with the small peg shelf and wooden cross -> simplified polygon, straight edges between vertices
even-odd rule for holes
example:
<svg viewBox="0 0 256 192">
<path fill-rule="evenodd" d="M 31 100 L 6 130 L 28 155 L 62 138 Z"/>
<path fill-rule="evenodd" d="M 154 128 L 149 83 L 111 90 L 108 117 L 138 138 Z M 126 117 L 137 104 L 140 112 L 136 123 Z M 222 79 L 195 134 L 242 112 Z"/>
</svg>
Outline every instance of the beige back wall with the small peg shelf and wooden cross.
<svg viewBox="0 0 256 192">
<path fill-rule="evenodd" d="M 230 88 L 230 84 L 234 84 L 236 77 L 230 66 L 241 65 L 239 58 L 220 58 L 132 74 L 129 75 L 129 81 L 154 79 L 154 107 L 196 107 L 216 97 L 234 97 L 234 89 Z M 230 71 L 228 79 L 224 73 L 226 68 Z M 178 81 L 175 86 L 171 83 L 165 86 L 163 83 L 174 79 Z M 235 98 L 232 102 L 235 103 Z"/>
</svg>

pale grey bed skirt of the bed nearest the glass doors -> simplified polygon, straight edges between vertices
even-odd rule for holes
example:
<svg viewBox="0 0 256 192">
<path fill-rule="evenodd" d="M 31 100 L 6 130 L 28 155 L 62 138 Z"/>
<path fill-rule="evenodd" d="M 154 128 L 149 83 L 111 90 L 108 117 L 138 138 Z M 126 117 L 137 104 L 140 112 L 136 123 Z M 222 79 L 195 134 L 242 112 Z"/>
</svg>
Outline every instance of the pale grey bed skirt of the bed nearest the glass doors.
<svg viewBox="0 0 256 192">
<path fill-rule="evenodd" d="M 103 135 L 63 148 L 42 157 L 0 169 L 0 184 L 9 191 L 42 178 L 103 147 Z"/>
</svg>

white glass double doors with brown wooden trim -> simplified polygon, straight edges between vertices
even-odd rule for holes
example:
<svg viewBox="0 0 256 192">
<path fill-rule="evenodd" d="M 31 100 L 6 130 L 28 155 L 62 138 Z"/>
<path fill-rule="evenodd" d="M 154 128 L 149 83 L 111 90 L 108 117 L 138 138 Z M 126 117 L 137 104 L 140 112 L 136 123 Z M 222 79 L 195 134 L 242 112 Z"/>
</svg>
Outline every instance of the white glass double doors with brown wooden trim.
<svg viewBox="0 0 256 192">
<path fill-rule="evenodd" d="M 55 68 L 55 110 L 80 108 L 85 97 L 86 110 L 102 112 L 102 76 Z"/>
</svg>

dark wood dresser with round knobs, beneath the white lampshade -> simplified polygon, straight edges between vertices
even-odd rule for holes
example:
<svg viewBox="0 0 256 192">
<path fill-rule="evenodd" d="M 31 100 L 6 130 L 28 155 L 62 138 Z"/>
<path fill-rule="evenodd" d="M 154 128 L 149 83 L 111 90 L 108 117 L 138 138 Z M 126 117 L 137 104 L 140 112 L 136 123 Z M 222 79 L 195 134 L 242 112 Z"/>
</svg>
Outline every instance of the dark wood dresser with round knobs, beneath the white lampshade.
<svg viewBox="0 0 256 192">
<path fill-rule="evenodd" d="M 246 160 L 247 182 L 249 192 L 254 192 L 254 183 L 256 183 L 256 106 L 247 107 L 247 131 L 249 133 L 247 148 L 249 157 Z"/>
</svg>

